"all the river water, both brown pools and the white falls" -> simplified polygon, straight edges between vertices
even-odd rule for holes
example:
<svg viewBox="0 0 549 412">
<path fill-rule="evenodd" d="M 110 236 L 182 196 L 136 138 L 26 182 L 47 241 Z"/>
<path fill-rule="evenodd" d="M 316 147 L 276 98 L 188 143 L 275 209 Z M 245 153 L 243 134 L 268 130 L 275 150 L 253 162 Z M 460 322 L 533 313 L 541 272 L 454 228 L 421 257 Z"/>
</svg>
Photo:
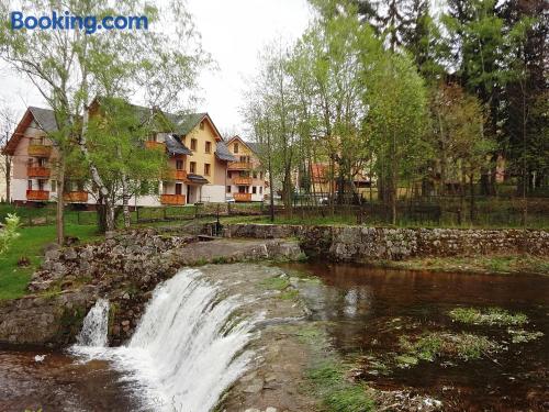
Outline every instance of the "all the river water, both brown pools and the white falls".
<svg viewBox="0 0 549 412">
<path fill-rule="evenodd" d="M 35 410 L 38 404 L 44 412 L 210 411 L 254 359 L 246 347 L 260 329 L 261 314 L 240 316 L 244 308 L 253 307 L 250 299 L 260 305 L 257 296 L 247 297 L 254 294 L 254 283 L 247 279 L 256 271 L 276 275 L 273 269 L 216 265 L 180 271 L 155 290 L 134 336 L 123 347 L 107 347 L 109 303 L 99 300 L 69 353 L 0 349 L 0 411 Z M 549 400 L 548 277 L 326 264 L 282 269 L 321 279 L 302 282 L 312 321 L 326 325 L 343 356 L 359 359 L 368 385 L 428 394 L 441 400 L 444 410 L 549 410 L 545 403 Z M 214 271 L 224 277 L 210 276 Z M 240 290 L 243 296 L 237 294 Z M 508 344 L 508 350 L 492 359 L 424 361 L 391 374 L 371 367 L 372 359 L 395 350 L 402 334 L 466 330 L 506 338 L 495 329 L 451 322 L 447 313 L 457 307 L 520 311 L 529 318 L 527 327 L 545 336 Z"/>
</svg>

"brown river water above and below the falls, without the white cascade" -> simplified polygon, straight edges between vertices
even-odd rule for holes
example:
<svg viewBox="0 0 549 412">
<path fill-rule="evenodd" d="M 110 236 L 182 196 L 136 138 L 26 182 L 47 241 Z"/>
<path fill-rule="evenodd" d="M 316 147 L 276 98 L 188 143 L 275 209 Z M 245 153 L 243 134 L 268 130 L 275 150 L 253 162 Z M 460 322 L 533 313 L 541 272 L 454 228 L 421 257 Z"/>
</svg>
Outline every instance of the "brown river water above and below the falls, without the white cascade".
<svg viewBox="0 0 549 412">
<path fill-rule="evenodd" d="M 217 271 L 234 268 L 216 267 Z M 428 394 L 440 400 L 444 410 L 549 409 L 548 277 L 418 272 L 326 263 L 280 267 L 291 276 L 315 276 L 321 280 L 306 282 L 301 289 L 312 309 L 311 321 L 325 322 L 334 348 L 356 365 L 358 379 L 369 386 Z M 265 267 L 265 270 L 271 269 Z M 184 302 L 178 304 L 184 307 Z M 522 312 L 528 316 L 525 329 L 545 335 L 528 343 L 512 344 L 502 327 L 463 325 L 448 316 L 455 308 L 469 307 Z M 204 308 L 212 311 L 212 305 Z M 397 350 L 401 335 L 413 336 L 426 331 L 482 334 L 505 349 L 477 360 L 419 361 L 410 368 L 389 371 L 372 367 Z M 179 337 L 170 336 L 171 339 Z M 223 342 L 213 344 L 223 345 Z M 159 352 L 160 347 L 155 350 Z M 136 392 L 135 376 L 115 364 L 112 356 L 82 361 L 74 352 L 2 348 L 0 411 L 35 411 L 42 407 L 44 412 L 124 412 L 144 408 Z M 215 368 L 213 371 L 219 374 Z M 184 374 L 178 379 L 184 380 Z M 225 387 L 227 385 L 228 381 Z M 222 387 L 215 389 L 223 390 Z"/>
</svg>

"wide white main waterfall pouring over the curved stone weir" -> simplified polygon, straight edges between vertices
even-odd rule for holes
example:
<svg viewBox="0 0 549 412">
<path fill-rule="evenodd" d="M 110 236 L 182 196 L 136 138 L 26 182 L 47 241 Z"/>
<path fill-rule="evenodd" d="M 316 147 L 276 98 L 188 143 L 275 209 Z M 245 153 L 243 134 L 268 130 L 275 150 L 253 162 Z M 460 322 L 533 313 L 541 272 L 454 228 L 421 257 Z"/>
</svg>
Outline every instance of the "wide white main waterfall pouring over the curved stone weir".
<svg viewBox="0 0 549 412">
<path fill-rule="evenodd" d="M 244 298 L 202 275 L 183 269 L 159 285 L 127 345 L 94 352 L 125 372 L 147 410 L 209 412 L 251 360 L 245 346 L 260 316 L 239 316 Z"/>
</svg>

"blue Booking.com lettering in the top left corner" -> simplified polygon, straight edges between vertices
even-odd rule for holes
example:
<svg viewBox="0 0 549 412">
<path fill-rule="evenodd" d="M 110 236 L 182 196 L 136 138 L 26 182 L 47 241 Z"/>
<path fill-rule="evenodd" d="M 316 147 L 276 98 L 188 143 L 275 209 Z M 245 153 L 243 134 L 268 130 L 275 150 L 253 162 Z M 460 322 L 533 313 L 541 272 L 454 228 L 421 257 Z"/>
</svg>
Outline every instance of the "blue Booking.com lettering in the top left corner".
<svg viewBox="0 0 549 412">
<path fill-rule="evenodd" d="M 148 19 L 145 15 L 107 15 L 98 23 L 96 15 L 71 15 L 68 11 L 64 13 L 52 12 L 52 15 L 24 16 L 21 11 L 10 13 L 12 30 L 82 30 L 86 34 L 93 34 L 98 30 L 147 30 Z"/>
</svg>

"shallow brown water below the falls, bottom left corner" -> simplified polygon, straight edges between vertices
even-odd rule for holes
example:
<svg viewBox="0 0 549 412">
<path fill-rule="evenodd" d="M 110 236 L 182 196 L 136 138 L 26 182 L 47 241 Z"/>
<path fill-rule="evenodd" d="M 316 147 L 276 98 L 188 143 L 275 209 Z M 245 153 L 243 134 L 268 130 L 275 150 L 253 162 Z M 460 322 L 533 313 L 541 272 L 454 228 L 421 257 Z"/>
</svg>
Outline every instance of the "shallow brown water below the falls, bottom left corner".
<svg viewBox="0 0 549 412">
<path fill-rule="evenodd" d="M 44 412 L 135 411 L 128 393 L 120 375 L 104 361 L 78 364 L 59 353 L 0 348 L 2 412 L 40 407 Z"/>
</svg>

